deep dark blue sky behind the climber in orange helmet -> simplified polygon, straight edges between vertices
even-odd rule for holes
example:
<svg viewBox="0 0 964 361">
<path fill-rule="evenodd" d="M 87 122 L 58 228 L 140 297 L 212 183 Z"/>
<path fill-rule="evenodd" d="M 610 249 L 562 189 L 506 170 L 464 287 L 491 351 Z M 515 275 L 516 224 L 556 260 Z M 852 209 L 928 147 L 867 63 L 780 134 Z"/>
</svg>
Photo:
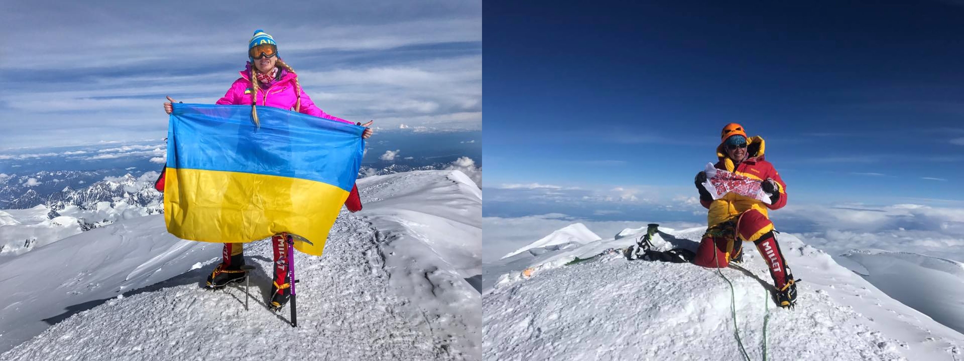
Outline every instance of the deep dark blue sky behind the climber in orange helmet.
<svg viewBox="0 0 964 361">
<path fill-rule="evenodd" d="M 487 1 L 483 15 L 487 187 L 696 195 L 735 121 L 766 140 L 791 202 L 964 200 L 964 3 Z"/>
</svg>

